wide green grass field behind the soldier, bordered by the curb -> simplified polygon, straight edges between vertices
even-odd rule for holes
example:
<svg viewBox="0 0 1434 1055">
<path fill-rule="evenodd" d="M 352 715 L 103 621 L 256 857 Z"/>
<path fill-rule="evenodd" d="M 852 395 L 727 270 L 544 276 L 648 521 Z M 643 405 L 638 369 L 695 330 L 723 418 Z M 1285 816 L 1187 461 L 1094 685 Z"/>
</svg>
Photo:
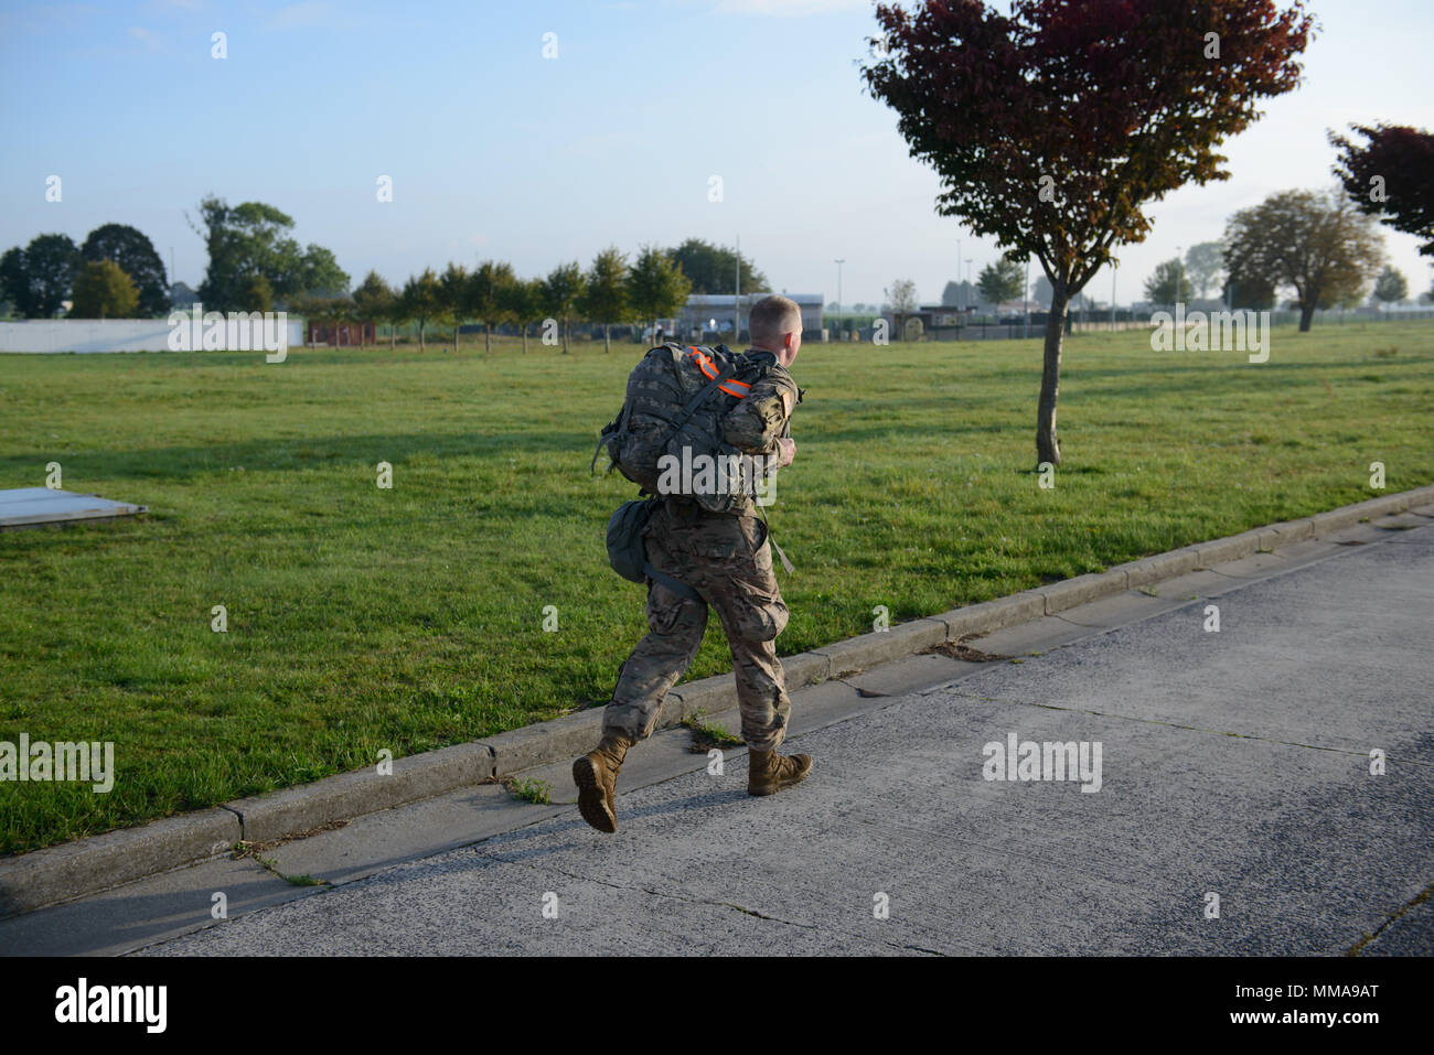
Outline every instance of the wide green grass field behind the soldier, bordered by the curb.
<svg viewBox="0 0 1434 1055">
<path fill-rule="evenodd" d="M 113 791 L 0 783 L 0 853 L 605 701 L 645 629 L 607 566 L 635 487 L 588 474 L 641 348 L 0 357 L 0 487 L 149 506 L 0 533 L 0 741 L 113 741 Z M 1434 324 L 1273 333 L 1271 358 L 1067 343 L 1054 490 L 1040 351 L 807 344 L 769 510 L 800 652 L 1434 480 Z M 393 489 L 376 464 L 393 464 Z M 225 605 L 228 632 L 211 631 Z M 543 608 L 558 631 L 543 631 Z M 713 621 L 690 677 L 728 667 Z"/>
</svg>

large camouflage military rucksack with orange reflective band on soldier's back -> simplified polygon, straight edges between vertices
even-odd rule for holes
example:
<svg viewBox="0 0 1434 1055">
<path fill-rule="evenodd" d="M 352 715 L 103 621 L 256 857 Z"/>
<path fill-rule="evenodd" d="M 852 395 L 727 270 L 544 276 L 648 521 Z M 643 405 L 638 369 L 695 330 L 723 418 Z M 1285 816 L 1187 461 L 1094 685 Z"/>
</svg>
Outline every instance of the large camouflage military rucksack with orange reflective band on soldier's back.
<svg viewBox="0 0 1434 1055">
<path fill-rule="evenodd" d="M 622 410 L 602 430 L 598 449 L 608 452 L 608 472 L 615 467 L 647 495 L 661 495 L 664 457 L 680 464 L 710 459 L 711 480 L 683 492 L 713 513 L 730 513 L 757 496 L 760 473 L 751 459 L 723 439 L 721 420 L 751 386 L 771 371 L 770 361 L 731 351 L 663 344 L 650 350 L 628 374 Z M 667 463 L 668 469 L 673 463 Z"/>
</svg>

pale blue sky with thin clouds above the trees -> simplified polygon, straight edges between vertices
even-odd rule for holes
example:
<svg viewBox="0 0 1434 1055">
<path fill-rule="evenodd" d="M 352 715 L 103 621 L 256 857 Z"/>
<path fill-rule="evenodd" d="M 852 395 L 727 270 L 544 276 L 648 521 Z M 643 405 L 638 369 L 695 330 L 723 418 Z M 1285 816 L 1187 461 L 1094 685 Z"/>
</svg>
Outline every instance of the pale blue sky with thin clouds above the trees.
<svg viewBox="0 0 1434 1055">
<path fill-rule="evenodd" d="M 1223 145 L 1229 181 L 1147 206 L 1119 302 L 1233 211 L 1331 186 L 1326 129 L 1434 128 L 1434 4 L 1309 9 L 1305 83 Z M 936 215 L 936 176 L 863 92 L 873 33 L 866 0 L 0 0 L 0 251 L 129 224 L 198 287 L 186 214 L 212 194 L 280 208 L 354 285 L 370 268 L 402 284 L 496 258 L 539 275 L 608 245 L 740 238 L 774 290 L 833 301 L 840 258 L 843 302 L 899 278 L 934 302 L 999 249 Z M 1411 295 L 1428 290 L 1415 239 L 1381 231 Z M 1110 291 L 1106 271 L 1086 292 Z"/>
</svg>

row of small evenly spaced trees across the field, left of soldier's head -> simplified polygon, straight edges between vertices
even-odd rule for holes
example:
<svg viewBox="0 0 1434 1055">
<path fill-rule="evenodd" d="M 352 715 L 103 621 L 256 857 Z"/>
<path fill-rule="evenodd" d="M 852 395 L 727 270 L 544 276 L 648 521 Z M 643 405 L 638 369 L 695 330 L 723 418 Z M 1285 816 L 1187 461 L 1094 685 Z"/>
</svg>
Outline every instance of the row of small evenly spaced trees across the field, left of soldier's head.
<svg viewBox="0 0 1434 1055">
<path fill-rule="evenodd" d="M 641 318 L 655 328 L 658 318 L 681 308 L 691 288 L 670 252 L 645 245 L 630 264 L 627 254 L 609 247 L 594 257 L 587 271 L 572 261 L 541 278 L 521 278 L 502 261 L 483 261 L 472 271 L 450 262 L 442 272 L 424 268 L 402 288 L 393 288 L 370 271 L 353 297 L 301 297 L 288 307 L 331 325 L 389 323 L 390 344 L 399 325 L 414 323 L 420 350 L 427 348 L 430 325 L 450 327 L 456 350 L 459 327 L 480 323 L 485 351 L 492 350 L 493 327 L 503 324 L 519 328 L 528 351 L 529 327 L 552 320 L 566 353 L 571 324 L 587 320 L 602 325 L 602 350 L 608 351 L 614 323 Z"/>
</svg>

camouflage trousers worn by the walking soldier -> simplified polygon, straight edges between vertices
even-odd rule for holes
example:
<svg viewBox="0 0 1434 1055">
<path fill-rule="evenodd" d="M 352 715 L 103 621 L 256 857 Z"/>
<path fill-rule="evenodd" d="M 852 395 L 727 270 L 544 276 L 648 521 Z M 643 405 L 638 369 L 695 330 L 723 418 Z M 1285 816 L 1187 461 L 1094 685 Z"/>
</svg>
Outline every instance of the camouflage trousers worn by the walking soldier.
<svg viewBox="0 0 1434 1055">
<path fill-rule="evenodd" d="M 644 740 L 652 732 L 663 698 L 693 662 L 707 629 L 707 605 L 717 609 L 741 705 L 747 747 L 773 751 L 787 735 L 792 701 L 777 659 L 776 636 L 787 606 L 771 571 L 771 548 L 756 516 L 717 516 L 664 503 L 647 529 L 647 559 L 697 591 L 687 599 L 648 579 L 648 635 L 622 664 L 604 731 Z M 761 543 L 760 546 L 757 543 Z"/>
</svg>

